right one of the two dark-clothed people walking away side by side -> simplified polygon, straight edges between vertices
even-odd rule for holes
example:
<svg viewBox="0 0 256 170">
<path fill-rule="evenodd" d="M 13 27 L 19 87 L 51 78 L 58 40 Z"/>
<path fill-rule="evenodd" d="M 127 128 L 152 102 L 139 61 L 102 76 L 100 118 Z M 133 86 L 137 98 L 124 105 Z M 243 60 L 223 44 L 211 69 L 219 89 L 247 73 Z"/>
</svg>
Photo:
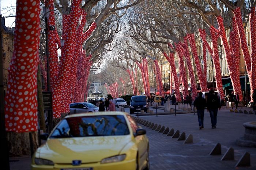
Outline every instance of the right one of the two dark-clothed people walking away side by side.
<svg viewBox="0 0 256 170">
<path fill-rule="evenodd" d="M 215 94 L 214 89 L 211 89 L 209 93 L 210 94 L 207 96 L 206 105 L 211 116 L 211 128 L 215 129 L 217 125 L 218 108 L 221 109 L 221 102 L 219 97 Z"/>
</svg>

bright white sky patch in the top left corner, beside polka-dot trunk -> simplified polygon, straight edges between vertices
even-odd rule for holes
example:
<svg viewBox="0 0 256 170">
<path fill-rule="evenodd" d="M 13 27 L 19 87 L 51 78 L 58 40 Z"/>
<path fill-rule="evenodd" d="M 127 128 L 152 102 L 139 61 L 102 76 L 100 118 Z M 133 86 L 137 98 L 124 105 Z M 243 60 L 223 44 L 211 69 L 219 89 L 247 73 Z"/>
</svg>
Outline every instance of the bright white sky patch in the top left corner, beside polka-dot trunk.
<svg viewBox="0 0 256 170">
<path fill-rule="evenodd" d="M 16 0 L 0 0 L 1 15 L 15 16 L 16 14 Z M 5 18 L 6 27 L 15 27 L 15 17 Z"/>
</svg>

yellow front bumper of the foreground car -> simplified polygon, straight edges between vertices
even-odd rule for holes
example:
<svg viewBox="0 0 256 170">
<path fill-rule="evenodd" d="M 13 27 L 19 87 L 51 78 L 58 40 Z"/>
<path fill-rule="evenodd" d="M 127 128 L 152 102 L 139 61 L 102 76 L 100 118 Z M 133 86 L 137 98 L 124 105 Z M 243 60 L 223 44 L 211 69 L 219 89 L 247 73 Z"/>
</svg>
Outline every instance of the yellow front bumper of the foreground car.
<svg viewBox="0 0 256 170">
<path fill-rule="evenodd" d="M 84 170 L 86 168 L 93 168 L 91 170 L 136 170 L 136 159 L 129 161 L 121 161 L 115 163 L 86 163 L 79 166 L 72 166 L 69 164 L 55 164 L 50 165 L 31 165 L 31 170 Z"/>
</svg>

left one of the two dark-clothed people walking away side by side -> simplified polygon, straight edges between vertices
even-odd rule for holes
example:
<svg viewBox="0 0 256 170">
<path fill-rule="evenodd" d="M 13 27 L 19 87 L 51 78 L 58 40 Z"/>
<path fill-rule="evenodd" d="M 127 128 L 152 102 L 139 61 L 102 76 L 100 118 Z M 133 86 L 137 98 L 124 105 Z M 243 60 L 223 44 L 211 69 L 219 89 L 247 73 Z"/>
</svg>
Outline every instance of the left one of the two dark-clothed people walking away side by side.
<svg viewBox="0 0 256 170">
<path fill-rule="evenodd" d="M 204 128 L 204 109 L 206 107 L 206 100 L 203 98 L 203 93 L 199 92 L 199 96 L 194 102 L 194 107 L 197 109 L 197 116 L 199 122 L 199 129 Z"/>
</svg>

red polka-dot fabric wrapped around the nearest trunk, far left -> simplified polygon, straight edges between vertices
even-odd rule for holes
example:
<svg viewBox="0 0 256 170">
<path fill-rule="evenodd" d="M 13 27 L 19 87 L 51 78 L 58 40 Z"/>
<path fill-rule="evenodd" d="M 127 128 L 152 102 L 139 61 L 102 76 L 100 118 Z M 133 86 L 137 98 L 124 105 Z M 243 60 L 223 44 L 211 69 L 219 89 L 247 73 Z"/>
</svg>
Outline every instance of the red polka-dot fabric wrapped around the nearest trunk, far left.
<svg viewBox="0 0 256 170">
<path fill-rule="evenodd" d="M 40 1 L 17 0 L 14 53 L 8 69 L 5 130 L 37 131 Z"/>
</svg>

